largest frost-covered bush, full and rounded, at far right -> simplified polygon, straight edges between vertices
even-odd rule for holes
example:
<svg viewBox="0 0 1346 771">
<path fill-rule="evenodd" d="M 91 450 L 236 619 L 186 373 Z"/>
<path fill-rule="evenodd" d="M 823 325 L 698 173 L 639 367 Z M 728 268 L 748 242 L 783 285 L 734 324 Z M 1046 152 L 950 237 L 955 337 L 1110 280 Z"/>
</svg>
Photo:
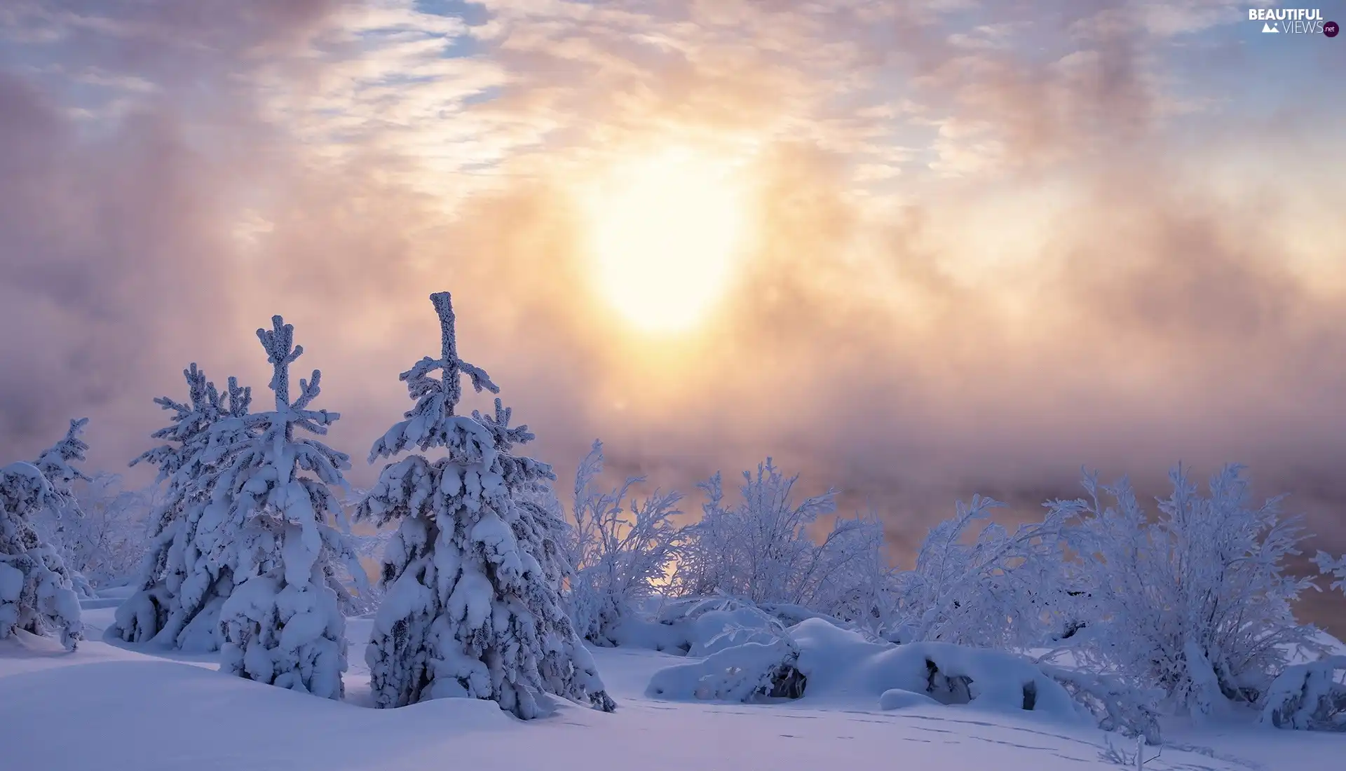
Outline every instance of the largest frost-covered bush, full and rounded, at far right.
<svg viewBox="0 0 1346 771">
<path fill-rule="evenodd" d="M 1152 519 L 1125 480 L 1109 487 L 1096 475 L 1085 476 L 1086 499 L 1049 505 L 1049 517 L 1070 518 L 1063 577 L 1088 623 L 1071 640 L 1079 663 L 1159 688 L 1168 708 L 1201 716 L 1259 702 L 1288 651 L 1314 649 L 1291 612 L 1310 580 L 1285 575 L 1302 529 L 1279 499 L 1249 506 L 1241 472 L 1225 467 L 1201 495 L 1174 468 Z"/>
</svg>

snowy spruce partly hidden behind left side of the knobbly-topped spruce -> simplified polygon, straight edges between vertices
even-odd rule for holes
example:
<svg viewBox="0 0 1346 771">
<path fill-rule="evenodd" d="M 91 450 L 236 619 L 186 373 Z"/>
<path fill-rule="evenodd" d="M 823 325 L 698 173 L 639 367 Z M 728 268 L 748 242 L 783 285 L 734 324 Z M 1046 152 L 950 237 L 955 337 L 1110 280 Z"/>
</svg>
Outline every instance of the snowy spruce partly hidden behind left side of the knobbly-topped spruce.
<svg viewBox="0 0 1346 771">
<path fill-rule="evenodd" d="M 203 541 L 213 542 L 215 534 L 202 518 L 219 467 L 252 436 L 245 420 L 252 389 L 229 378 L 221 393 L 195 363 L 183 377 L 187 401 L 155 400 L 172 413 L 170 424 L 151 435 L 166 444 L 131 462 L 157 467 L 157 483 L 167 484 L 149 515 L 139 589 L 117 608 L 109 634 L 127 642 L 209 653 L 219 650 L 219 608 L 234 588 L 234 577 L 230 565 L 209 558 Z"/>
</svg>

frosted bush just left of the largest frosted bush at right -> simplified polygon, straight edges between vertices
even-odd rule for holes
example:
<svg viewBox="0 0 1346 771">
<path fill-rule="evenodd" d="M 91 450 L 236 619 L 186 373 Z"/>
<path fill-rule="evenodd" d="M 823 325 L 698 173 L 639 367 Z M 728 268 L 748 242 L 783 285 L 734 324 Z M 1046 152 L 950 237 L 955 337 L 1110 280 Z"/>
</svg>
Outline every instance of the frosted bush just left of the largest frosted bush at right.
<svg viewBox="0 0 1346 771">
<path fill-rule="evenodd" d="M 1065 511 L 1014 533 L 985 522 L 1003 506 L 973 497 L 957 517 L 930 529 L 915 568 L 895 577 L 895 607 L 884 630 L 892 642 L 938 640 L 980 647 L 1036 645 L 1062 626 Z M 976 541 L 969 529 L 985 522 Z"/>
</svg>

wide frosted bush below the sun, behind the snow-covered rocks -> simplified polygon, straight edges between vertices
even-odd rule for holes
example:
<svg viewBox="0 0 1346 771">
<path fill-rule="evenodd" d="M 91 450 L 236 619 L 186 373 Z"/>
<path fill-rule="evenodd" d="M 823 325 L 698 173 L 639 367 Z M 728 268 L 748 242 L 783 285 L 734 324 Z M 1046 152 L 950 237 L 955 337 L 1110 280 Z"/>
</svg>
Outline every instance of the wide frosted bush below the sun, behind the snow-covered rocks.
<svg viewBox="0 0 1346 771">
<path fill-rule="evenodd" d="M 730 595 L 825 614 L 868 596 L 868 589 L 851 584 L 861 568 L 882 564 L 874 558 L 882 530 L 875 540 L 872 522 L 841 518 L 821 544 L 814 542 L 808 530 L 818 517 L 836 510 L 836 491 L 795 505 L 797 480 L 798 475 L 785 476 L 769 457 L 755 475 L 743 472 L 743 499 L 732 507 L 724 503 L 719 474 L 699 484 L 708 501 L 678 556 L 678 593 Z"/>
</svg>

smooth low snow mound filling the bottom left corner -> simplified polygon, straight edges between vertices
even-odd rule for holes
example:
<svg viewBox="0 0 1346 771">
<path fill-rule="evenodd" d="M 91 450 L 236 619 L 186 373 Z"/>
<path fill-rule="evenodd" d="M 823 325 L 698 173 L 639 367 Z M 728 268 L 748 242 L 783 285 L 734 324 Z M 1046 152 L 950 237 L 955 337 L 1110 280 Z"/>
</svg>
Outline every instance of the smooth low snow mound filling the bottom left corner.
<svg viewBox="0 0 1346 771">
<path fill-rule="evenodd" d="M 514 723 L 489 701 L 393 714 L 148 658 L 0 677 L 5 768 L 380 768 L 425 736 L 489 735 Z M 73 725 L 79 740 L 52 741 L 57 725 Z M 366 739 L 371 729 L 378 741 Z M 415 766 L 424 767 L 406 763 Z"/>
</svg>

